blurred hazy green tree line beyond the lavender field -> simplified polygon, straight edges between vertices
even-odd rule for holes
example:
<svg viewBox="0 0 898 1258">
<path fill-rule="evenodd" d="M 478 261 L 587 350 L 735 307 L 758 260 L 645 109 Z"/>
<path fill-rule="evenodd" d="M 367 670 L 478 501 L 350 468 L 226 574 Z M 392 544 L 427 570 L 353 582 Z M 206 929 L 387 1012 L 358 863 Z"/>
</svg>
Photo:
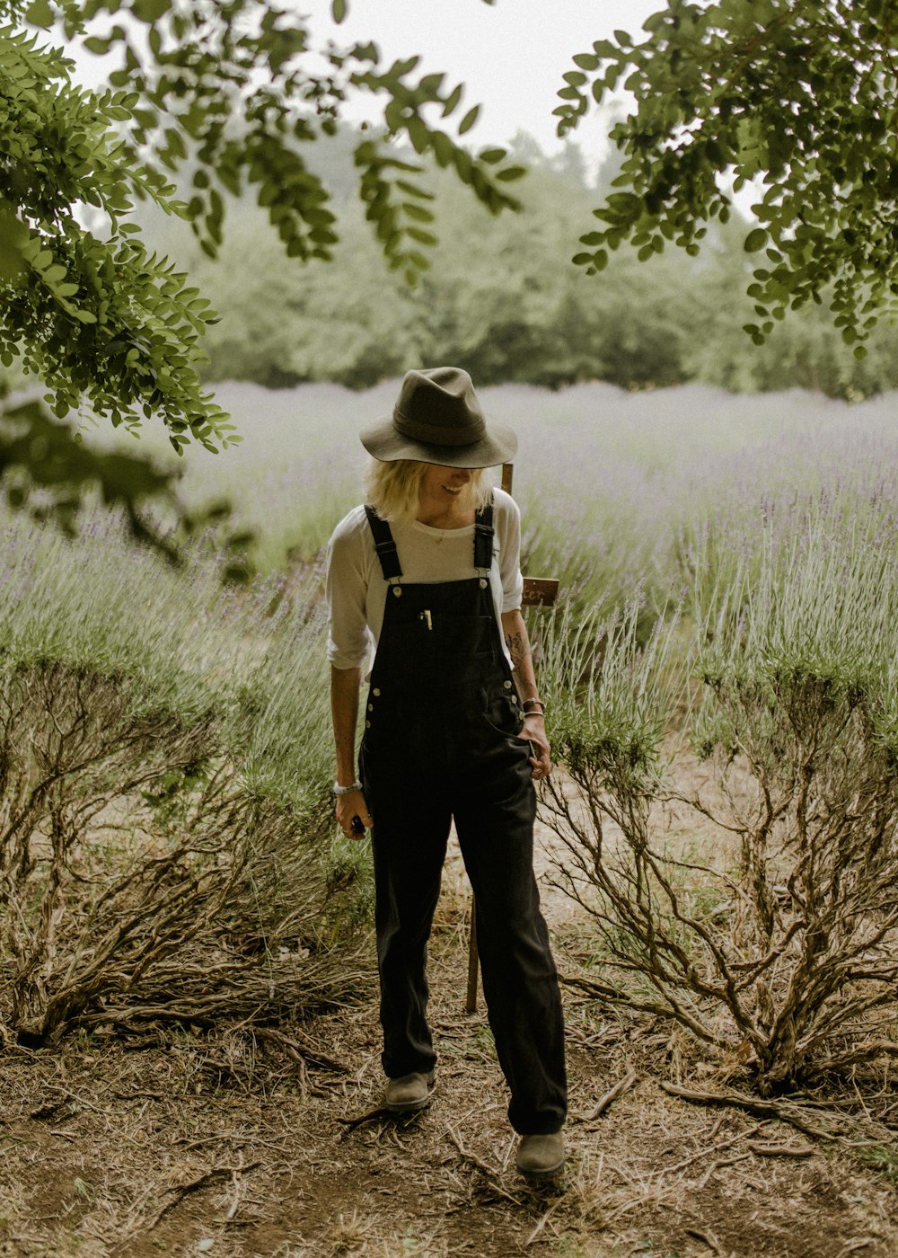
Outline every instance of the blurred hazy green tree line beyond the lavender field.
<svg viewBox="0 0 898 1258">
<path fill-rule="evenodd" d="M 172 220 L 148 225 L 153 243 L 189 267 L 221 314 L 205 338 L 209 380 L 269 387 L 332 380 L 363 389 L 409 364 L 439 360 L 465 366 L 482 384 L 605 380 L 648 389 L 702 381 L 843 398 L 898 386 L 898 333 L 887 323 L 873 331 L 863 361 L 814 304 L 789 312 L 763 345 L 752 343 L 743 325 L 756 317 L 746 296 L 753 263 L 737 215 L 711 225 L 696 258 L 669 249 L 640 263 L 620 250 L 600 276 L 571 267 L 570 242 L 589 230 L 596 195 L 616 174 L 606 164 L 590 180 L 576 145 L 550 157 L 529 136 L 517 137 L 512 155 L 531 171 L 517 186 L 523 211 L 501 221 L 434 171 L 439 243 L 409 287 L 385 264 L 352 195 L 356 143 L 343 132 L 316 146 L 341 219 L 330 263 L 284 265 L 250 204 L 229 210 L 221 265 L 179 235 Z"/>
</svg>

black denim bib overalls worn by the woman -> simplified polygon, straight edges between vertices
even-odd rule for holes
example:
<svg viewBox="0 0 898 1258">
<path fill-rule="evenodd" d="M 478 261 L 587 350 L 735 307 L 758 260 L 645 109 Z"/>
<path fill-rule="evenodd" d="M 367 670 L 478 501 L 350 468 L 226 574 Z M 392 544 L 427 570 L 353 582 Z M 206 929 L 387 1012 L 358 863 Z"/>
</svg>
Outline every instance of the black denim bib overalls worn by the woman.
<svg viewBox="0 0 898 1258">
<path fill-rule="evenodd" d="M 468 580 L 402 584 L 390 526 L 366 507 L 390 582 L 360 772 L 374 820 L 384 1071 L 434 1068 L 426 945 L 452 819 L 477 905 L 483 991 L 508 1117 L 522 1135 L 566 1112 L 558 982 L 533 876 L 529 747 L 488 574 L 493 508 L 478 512 Z"/>
</svg>

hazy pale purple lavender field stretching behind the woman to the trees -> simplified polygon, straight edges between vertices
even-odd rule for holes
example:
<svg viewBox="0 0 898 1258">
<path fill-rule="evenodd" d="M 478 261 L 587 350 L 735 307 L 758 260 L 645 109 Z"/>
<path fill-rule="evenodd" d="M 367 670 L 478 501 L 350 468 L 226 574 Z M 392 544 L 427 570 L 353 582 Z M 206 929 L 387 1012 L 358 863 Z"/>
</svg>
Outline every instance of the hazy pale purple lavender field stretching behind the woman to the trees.
<svg viewBox="0 0 898 1258">
<path fill-rule="evenodd" d="M 390 413 L 396 389 L 219 386 L 243 444 L 225 455 L 189 452 L 185 497 L 229 497 L 236 522 L 258 535 L 265 571 L 283 569 L 291 552 L 313 557 L 358 499 L 367 457 L 357 430 Z M 586 384 L 558 392 L 504 385 L 482 398 L 519 435 L 514 494 L 529 569 L 548 565 L 568 591 L 586 582 L 590 600 L 606 606 L 640 584 L 675 582 L 678 548 L 712 526 L 718 536 L 751 535 L 821 493 L 882 509 L 894 501 L 898 395 L 850 406 L 797 390 Z M 166 457 L 160 433 L 147 429 L 142 442 Z"/>
</svg>

